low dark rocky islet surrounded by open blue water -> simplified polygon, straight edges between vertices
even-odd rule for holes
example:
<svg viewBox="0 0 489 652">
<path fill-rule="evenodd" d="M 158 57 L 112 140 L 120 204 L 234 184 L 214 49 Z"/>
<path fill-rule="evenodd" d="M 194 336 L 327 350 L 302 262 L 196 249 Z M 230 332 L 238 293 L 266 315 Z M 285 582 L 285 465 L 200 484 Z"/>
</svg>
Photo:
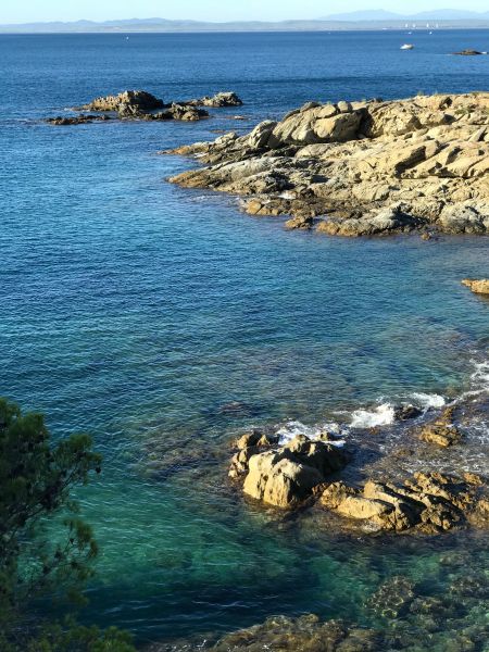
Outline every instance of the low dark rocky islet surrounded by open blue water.
<svg viewBox="0 0 489 652">
<path fill-rule="evenodd" d="M 209 117 L 209 112 L 202 106 L 223 109 L 241 106 L 242 101 L 235 92 L 218 92 L 213 97 L 197 100 L 173 101 L 166 103 L 146 90 L 125 90 L 115 96 L 96 98 L 88 104 L 74 106 L 76 115 L 59 115 L 48 117 L 53 125 L 80 125 L 108 120 L 146 120 L 168 121 L 178 120 L 195 122 Z M 84 111 L 96 112 L 83 113 Z"/>
</svg>

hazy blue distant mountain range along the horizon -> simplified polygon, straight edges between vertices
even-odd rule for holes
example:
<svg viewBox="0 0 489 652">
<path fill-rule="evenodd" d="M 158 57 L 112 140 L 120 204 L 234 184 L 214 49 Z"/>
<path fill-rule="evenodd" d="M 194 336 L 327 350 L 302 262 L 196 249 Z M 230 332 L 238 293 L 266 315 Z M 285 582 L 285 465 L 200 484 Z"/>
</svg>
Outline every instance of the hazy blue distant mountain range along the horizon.
<svg viewBox="0 0 489 652">
<path fill-rule="evenodd" d="M 24 23 L 0 25 L 0 34 L 77 34 L 77 33 L 185 33 L 185 32 L 333 32 L 341 29 L 400 29 L 408 23 L 436 21 L 441 28 L 489 28 L 489 11 L 476 13 L 457 10 L 426 11 L 403 16 L 384 10 L 333 14 L 314 21 L 243 21 L 206 23 L 167 21 L 165 18 L 129 18 L 121 21 L 75 21 L 72 23 Z"/>
</svg>

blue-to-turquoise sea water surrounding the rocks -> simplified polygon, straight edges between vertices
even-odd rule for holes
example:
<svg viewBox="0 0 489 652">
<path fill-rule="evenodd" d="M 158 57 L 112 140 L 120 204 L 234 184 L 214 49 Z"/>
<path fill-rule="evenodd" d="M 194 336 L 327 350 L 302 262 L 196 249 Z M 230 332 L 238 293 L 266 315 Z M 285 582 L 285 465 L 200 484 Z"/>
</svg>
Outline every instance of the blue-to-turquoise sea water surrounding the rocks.
<svg viewBox="0 0 489 652">
<path fill-rule="evenodd" d="M 408 38 L 416 49 L 399 51 Z M 487 89 L 489 59 L 447 52 L 488 38 L 0 37 L 0 394 L 43 411 L 55 432 L 91 432 L 104 453 L 83 499 L 102 548 L 87 616 L 140 640 L 271 613 L 365 620 L 365 597 L 390 576 L 428 576 L 432 590 L 452 578 L 442 548 L 464 539 L 338 541 L 243 504 L 226 481 L 227 442 L 251 425 L 465 390 L 489 306 L 460 279 L 488 275 L 487 240 L 286 233 L 230 198 L 165 184 L 191 163 L 155 152 L 311 99 Z M 248 120 L 39 122 L 131 87 L 235 90 Z"/>
</svg>

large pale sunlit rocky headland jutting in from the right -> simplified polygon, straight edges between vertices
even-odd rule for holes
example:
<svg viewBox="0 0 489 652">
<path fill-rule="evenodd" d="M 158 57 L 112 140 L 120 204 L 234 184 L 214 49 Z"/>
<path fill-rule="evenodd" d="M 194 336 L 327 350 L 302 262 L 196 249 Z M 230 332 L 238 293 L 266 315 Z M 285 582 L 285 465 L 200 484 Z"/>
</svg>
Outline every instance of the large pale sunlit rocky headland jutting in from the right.
<svg viewBox="0 0 489 652">
<path fill-rule="evenodd" d="M 172 183 L 244 198 L 251 215 L 337 236 L 489 233 L 489 93 L 310 102 L 250 134 L 170 152 Z"/>
</svg>

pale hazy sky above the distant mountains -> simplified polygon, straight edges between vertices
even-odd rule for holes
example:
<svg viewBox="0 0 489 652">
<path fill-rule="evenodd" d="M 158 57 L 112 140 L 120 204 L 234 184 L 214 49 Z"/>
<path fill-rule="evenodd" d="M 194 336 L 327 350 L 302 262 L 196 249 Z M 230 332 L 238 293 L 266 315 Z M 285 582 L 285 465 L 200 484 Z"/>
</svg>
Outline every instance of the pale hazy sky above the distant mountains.
<svg viewBox="0 0 489 652">
<path fill-rule="evenodd" d="M 387 9 L 487 11 L 487 0 L 1 0 L 0 23 L 162 17 L 208 21 L 317 18 L 335 12 Z"/>
</svg>

